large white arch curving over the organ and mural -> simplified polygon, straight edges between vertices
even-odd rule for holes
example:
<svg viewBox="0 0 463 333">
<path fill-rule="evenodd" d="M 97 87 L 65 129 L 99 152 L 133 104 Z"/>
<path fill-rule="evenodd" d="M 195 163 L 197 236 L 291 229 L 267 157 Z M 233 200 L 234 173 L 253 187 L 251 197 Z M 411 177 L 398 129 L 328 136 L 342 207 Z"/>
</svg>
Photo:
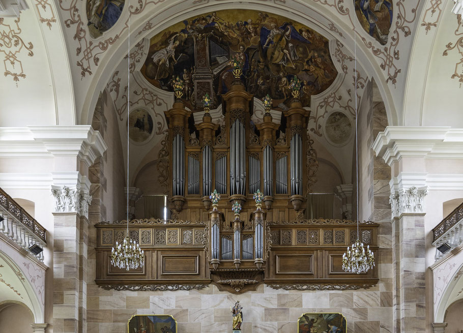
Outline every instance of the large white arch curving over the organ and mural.
<svg viewBox="0 0 463 333">
<path fill-rule="evenodd" d="M 346 5 L 346 7 L 348 7 L 346 8 L 346 12 L 353 12 L 353 3 L 348 3 Z M 327 8 L 321 4 L 298 3 L 298 6 L 303 7 L 301 8 L 301 10 L 298 10 L 298 8 L 290 7 L 289 4 L 263 4 L 258 0 L 250 0 L 245 3 L 240 3 L 240 6 L 242 6 L 242 8 L 244 9 L 262 10 L 269 13 L 282 15 L 285 17 L 292 17 L 298 22 L 315 29 L 317 32 L 323 34 L 330 40 L 339 37 L 337 35 L 339 33 L 342 36 L 341 42 L 345 44 L 349 50 L 353 50 L 354 34 L 350 24 L 347 24 L 339 20 L 339 18 L 336 17 L 336 15 L 327 10 Z M 131 31 L 138 32 L 136 37 L 133 37 L 133 35 L 131 36 L 131 45 L 135 45 L 135 43 L 139 42 L 143 38 L 149 38 L 150 36 L 159 33 L 171 24 L 177 23 L 187 17 L 196 14 L 202 14 L 206 11 L 218 11 L 229 8 L 236 9 L 236 4 L 234 2 L 213 4 L 207 3 L 201 5 L 194 5 L 193 3 L 191 3 L 190 8 L 186 7 L 184 3 L 179 4 L 177 2 L 165 2 L 158 4 L 156 11 L 143 11 L 142 14 L 139 14 L 139 17 L 135 17 L 138 18 L 136 21 L 133 20 L 131 22 Z M 154 24 L 150 20 L 157 18 L 157 15 L 162 15 L 162 17 L 165 18 L 163 19 L 162 17 L 159 17 L 159 23 Z M 127 16 L 128 13 L 126 13 L 125 15 L 126 19 Z M 146 23 L 148 21 L 150 21 L 150 24 L 153 26 L 153 28 L 151 30 L 147 29 L 147 31 L 144 31 L 143 28 L 146 26 Z M 328 27 L 328 22 L 334 21 L 339 25 L 339 32 L 334 31 L 333 29 L 330 29 Z M 365 69 L 365 71 L 371 73 L 373 77 L 377 78 L 377 82 L 380 86 L 383 100 L 386 104 L 389 124 L 397 125 L 397 114 L 395 111 L 396 107 L 392 98 L 392 94 L 390 92 L 390 88 L 387 85 L 386 80 L 384 80 L 384 73 L 378 66 L 377 60 L 375 59 L 374 55 L 369 50 L 367 50 L 365 45 L 362 45 L 360 43 L 362 34 L 364 32 L 357 31 L 356 33 L 358 35 L 357 39 L 359 41 L 358 49 L 360 49 L 360 52 L 357 52 L 358 63 L 360 66 L 363 65 L 362 67 Z M 100 66 L 96 68 L 94 73 L 95 77 L 89 86 L 86 96 L 83 99 L 83 105 L 80 115 L 80 124 L 90 124 L 92 119 L 92 112 L 94 109 L 93 106 L 96 104 L 96 100 L 98 98 L 98 94 L 95 94 L 95 92 L 99 92 L 104 89 L 113 71 L 119 65 L 120 60 L 122 60 L 125 54 L 127 53 L 127 38 L 128 31 L 127 29 L 123 29 L 123 31 L 119 35 L 119 40 L 115 42 L 112 46 L 114 49 L 111 56 L 113 59 L 118 59 L 119 61 L 105 60 L 100 62 Z"/>
</svg>

